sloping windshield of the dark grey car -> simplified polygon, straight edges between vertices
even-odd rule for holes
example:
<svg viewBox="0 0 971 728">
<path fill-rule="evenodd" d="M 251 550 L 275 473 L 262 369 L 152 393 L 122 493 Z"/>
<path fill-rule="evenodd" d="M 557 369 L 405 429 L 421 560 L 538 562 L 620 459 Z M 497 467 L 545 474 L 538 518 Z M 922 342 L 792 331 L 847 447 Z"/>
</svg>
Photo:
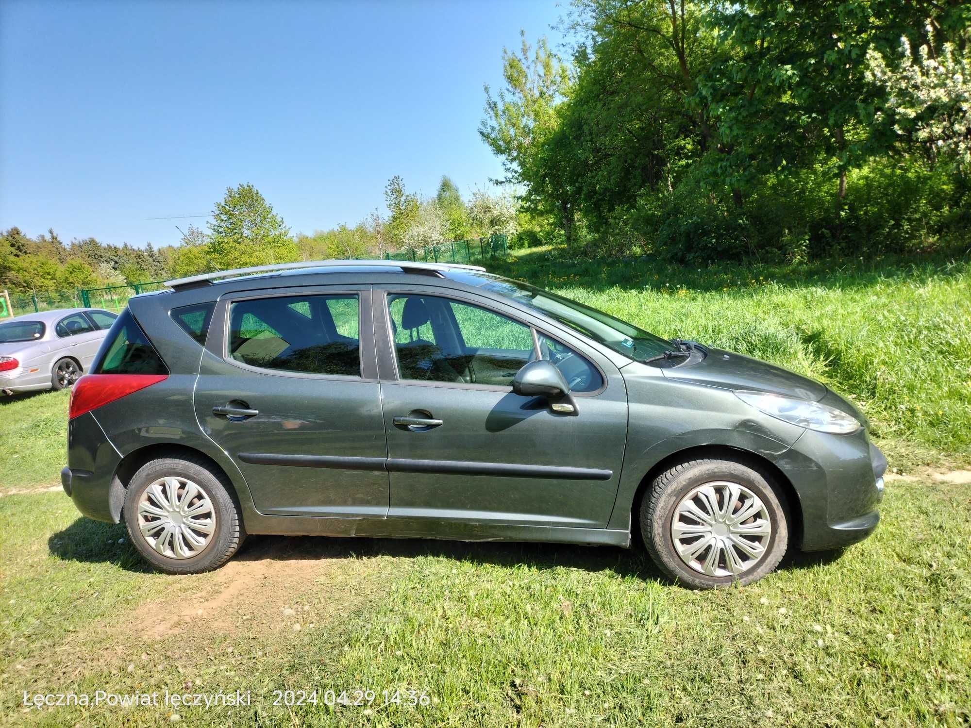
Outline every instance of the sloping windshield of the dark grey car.
<svg viewBox="0 0 971 728">
<path fill-rule="evenodd" d="M 631 323 L 528 283 L 489 281 L 482 287 L 546 314 L 564 326 L 635 361 L 644 361 L 672 348 L 671 342 Z"/>
</svg>

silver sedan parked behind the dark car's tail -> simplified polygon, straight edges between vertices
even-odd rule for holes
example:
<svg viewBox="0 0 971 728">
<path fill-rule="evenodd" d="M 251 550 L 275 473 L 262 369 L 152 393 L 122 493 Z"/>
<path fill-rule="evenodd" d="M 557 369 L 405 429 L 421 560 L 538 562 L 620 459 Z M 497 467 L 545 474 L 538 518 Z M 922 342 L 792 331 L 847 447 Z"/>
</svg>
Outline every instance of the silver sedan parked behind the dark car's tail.
<svg viewBox="0 0 971 728">
<path fill-rule="evenodd" d="M 0 323 L 0 391 L 71 386 L 91 366 L 117 314 L 57 309 Z"/>
</svg>

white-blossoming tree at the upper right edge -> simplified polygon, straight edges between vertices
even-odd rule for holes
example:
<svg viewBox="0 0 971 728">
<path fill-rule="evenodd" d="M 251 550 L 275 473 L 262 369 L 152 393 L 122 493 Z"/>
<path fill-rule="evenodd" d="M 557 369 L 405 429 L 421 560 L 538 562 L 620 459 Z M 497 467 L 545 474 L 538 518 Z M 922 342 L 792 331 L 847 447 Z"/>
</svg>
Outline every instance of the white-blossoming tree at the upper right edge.
<svg viewBox="0 0 971 728">
<path fill-rule="evenodd" d="M 931 28 L 927 28 L 928 35 Z M 887 115 L 893 130 L 923 145 L 931 158 L 953 155 L 963 167 L 971 165 L 971 44 L 964 50 L 945 43 L 935 54 L 928 46 L 917 61 L 906 38 L 897 70 L 884 56 L 869 50 L 868 77 L 887 87 Z"/>
</svg>

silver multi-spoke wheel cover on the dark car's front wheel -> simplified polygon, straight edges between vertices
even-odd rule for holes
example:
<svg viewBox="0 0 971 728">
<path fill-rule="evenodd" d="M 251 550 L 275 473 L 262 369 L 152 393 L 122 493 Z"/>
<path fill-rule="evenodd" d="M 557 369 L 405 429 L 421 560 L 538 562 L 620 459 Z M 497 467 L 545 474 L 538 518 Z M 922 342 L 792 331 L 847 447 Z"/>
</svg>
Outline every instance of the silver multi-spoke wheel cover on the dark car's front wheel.
<svg viewBox="0 0 971 728">
<path fill-rule="evenodd" d="M 693 571 L 738 577 L 765 554 L 772 521 L 762 500 L 737 482 L 714 480 L 691 489 L 671 516 L 675 551 Z"/>
</svg>

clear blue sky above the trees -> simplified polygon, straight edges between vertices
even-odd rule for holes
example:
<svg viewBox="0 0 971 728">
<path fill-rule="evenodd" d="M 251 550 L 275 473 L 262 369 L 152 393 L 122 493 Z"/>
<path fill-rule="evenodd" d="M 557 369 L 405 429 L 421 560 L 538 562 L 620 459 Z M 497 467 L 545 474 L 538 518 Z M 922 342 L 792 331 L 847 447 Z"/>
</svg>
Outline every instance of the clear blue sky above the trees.
<svg viewBox="0 0 971 728">
<path fill-rule="evenodd" d="M 156 246 L 252 182 L 293 232 L 384 209 L 385 182 L 463 194 L 503 46 L 535 2 L 0 2 L 0 228 Z"/>
</svg>

